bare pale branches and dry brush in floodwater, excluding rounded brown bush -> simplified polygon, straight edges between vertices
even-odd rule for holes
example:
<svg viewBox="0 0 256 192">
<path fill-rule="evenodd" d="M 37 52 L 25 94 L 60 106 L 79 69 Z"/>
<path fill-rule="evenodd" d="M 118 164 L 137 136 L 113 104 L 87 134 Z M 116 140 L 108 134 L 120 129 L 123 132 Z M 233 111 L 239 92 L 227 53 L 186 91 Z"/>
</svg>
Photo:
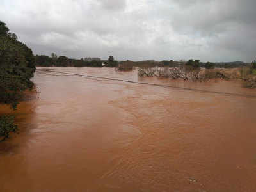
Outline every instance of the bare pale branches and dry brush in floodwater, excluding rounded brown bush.
<svg viewBox="0 0 256 192">
<path fill-rule="evenodd" d="M 250 66 L 242 66 L 240 70 L 215 68 L 214 63 L 207 62 L 204 67 L 200 67 L 199 60 L 189 60 L 181 65 L 174 65 L 173 61 L 168 64 L 164 61 L 159 65 L 142 65 L 138 67 L 138 76 L 162 77 L 172 79 L 184 79 L 192 81 L 207 81 L 209 79 L 239 79 L 244 81 L 248 88 L 256 88 L 256 61 Z"/>
</svg>

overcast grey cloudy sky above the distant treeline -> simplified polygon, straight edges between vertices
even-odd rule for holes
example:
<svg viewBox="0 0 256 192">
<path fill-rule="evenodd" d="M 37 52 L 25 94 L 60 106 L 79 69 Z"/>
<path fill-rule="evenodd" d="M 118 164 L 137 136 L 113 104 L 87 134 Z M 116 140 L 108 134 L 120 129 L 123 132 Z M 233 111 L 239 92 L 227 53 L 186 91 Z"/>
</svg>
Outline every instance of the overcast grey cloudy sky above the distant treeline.
<svg viewBox="0 0 256 192">
<path fill-rule="evenodd" d="M 34 54 L 256 59 L 255 0 L 1 0 L 0 20 Z"/>
</svg>

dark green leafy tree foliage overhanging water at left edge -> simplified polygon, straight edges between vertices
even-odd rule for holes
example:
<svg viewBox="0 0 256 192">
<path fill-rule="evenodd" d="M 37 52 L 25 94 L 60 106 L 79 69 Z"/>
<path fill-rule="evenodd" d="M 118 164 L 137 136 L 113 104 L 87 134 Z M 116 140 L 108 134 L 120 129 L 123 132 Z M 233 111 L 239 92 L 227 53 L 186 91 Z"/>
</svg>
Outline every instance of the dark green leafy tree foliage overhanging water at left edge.
<svg viewBox="0 0 256 192">
<path fill-rule="evenodd" d="M 33 88 L 34 72 L 33 52 L 0 21 L 0 103 L 16 109 L 24 91 Z M 0 116 L 0 140 L 9 138 L 11 132 L 17 132 L 13 116 Z"/>
</svg>

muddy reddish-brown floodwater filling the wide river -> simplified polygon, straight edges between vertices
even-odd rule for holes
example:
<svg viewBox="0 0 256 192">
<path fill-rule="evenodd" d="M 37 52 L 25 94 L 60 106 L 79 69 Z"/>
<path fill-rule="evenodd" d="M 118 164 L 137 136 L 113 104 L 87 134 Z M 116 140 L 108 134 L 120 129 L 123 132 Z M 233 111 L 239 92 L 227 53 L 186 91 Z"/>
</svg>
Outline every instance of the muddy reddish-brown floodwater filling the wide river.
<svg viewBox="0 0 256 192">
<path fill-rule="evenodd" d="M 241 96 L 37 71 L 38 99 L 19 105 L 20 134 L 0 144 L 0 191 L 256 191 L 256 90 L 47 69 Z"/>
</svg>

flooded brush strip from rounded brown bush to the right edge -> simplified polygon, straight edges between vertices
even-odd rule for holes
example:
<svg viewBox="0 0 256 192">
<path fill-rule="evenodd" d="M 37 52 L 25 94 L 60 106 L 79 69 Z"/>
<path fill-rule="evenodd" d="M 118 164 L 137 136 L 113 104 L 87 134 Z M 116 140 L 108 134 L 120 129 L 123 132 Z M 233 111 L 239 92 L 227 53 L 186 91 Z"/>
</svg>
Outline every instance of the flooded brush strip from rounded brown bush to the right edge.
<svg viewBox="0 0 256 192">
<path fill-rule="evenodd" d="M 235 67 L 236 66 L 236 67 Z M 185 61 L 121 61 L 116 70 L 138 70 L 140 77 L 161 77 L 191 81 L 208 81 L 209 79 L 240 80 L 247 88 L 256 88 L 256 61 L 251 64 L 243 62 L 202 63 L 200 60 Z"/>
</svg>

